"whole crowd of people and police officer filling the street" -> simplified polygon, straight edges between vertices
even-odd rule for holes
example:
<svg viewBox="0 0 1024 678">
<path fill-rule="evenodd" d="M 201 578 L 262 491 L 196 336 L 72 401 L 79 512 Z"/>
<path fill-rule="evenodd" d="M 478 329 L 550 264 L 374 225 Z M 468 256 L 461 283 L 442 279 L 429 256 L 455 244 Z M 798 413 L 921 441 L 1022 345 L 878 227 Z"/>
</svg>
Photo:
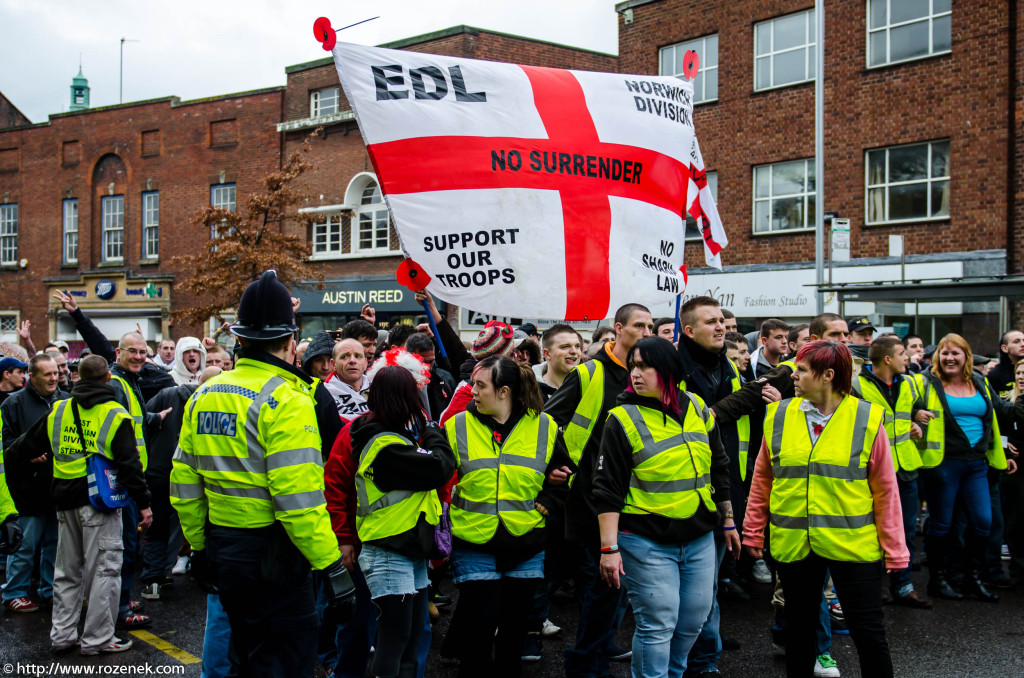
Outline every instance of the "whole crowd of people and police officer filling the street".
<svg viewBox="0 0 1024 678">
<path fill-rule="evenodd" d="M 115 344 L 55 298 L 80 355 L 37 351 L 28 323 L 24 348 L 0 345 L 3 606 L 51 607 L 55 652 L 129 649 L 187 574 L 204 676 L 423 676 L 454 604 L 440 648 L 464 678 L 540 661 L 714 677 L 735 642 L 718 599 L 761 585 L 787 675 L 839 676 L 849 632 L 861 674 L 887 676 L 885 603 L 996 602 L 1024 576 L 1021 331 L 996 359 L 835 313 L 743 335 L 694 297 L 678 319 L 627 304 L 588 337 L 492 322 L 464 343 L 418 293 L 429 325 L 385 332 L 366 306 L 300 341 L 267 271 L 230 347 Z M 561 658 L 544 653 L 556 590 L 579 603 Z"/>
</svg>

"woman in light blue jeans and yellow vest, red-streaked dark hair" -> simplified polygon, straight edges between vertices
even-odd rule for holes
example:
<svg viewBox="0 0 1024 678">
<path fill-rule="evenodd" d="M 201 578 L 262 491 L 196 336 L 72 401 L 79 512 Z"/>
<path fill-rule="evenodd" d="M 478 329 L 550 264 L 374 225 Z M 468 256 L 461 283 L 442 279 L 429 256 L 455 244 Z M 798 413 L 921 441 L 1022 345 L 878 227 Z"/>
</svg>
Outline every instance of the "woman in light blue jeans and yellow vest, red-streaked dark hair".
<svg viewBox="0 0 1024 678">
<path fill-rule="evenodd" d="M 626 578 L 634 678 L 682 675 L 712 607 L 721 515 L 726 548 L 739 555 L 729 458 L 703 400 L 678 388 L 683 364 L 671 342 L 641 339 L 629 367 L 594 471 L 601 577 L 615 588 Z"/>
</svg>

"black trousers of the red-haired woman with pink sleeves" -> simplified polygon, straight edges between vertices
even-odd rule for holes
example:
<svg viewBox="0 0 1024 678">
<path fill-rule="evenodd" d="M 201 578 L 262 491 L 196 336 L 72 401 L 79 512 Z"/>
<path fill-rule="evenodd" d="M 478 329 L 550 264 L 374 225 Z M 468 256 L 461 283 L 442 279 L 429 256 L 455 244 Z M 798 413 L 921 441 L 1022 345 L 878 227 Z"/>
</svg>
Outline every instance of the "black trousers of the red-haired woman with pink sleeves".
<svg viewBox="0 0 1024 678">
<path fill-rule="evenodd" d="M 860 658 L 860 675 L 893 675 L 886 626 L 882 617 L 882 562 L 828 560 L 811 553 L 796 562 L 778 562 L 785 594 L 785 673 L 790 678 L 814 675 L 816 626 L 821 604 L 821 582 L 829 570 L 843 616 Z"/>
</svg>

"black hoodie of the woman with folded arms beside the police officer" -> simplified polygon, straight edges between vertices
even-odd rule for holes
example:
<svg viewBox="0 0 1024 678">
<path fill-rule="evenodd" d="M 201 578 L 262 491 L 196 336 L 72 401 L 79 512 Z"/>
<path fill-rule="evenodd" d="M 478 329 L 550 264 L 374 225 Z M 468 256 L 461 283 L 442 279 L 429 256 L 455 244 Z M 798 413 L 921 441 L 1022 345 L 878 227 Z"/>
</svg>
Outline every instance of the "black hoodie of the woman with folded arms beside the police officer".
<svg viewBox="0 0 1024 678">
<path fill-rule="evenodd" d="M 374 484 L 381 492 L 436 490 L 444 485 L 455 473 L 455 455 L 449 447 L 447 436 L 432 422 L 417 437 L 410 431 L 395 430 L 364 415 L 352 421 L 350 433 L 352 454 L 356 458 L 374 436 L 382 433 L 394 433 L 414 442 L 392 443 L 377 453 L 369 470 L 373 474 Z M 434 526 L 421 513 L 413 529 L 367 543 L 410 558 L 429 558 L 434 545 Z"/>
</svg>

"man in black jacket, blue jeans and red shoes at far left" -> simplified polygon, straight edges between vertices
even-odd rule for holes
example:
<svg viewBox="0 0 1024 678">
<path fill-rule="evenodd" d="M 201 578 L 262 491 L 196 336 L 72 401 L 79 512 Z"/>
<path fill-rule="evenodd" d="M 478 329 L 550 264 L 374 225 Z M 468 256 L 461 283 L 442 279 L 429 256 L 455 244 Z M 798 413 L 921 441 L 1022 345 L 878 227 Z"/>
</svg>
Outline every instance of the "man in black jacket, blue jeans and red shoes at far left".
<svg viewBox="0 0 1024 678">
<path fill-rule="evenodd" d="M 29 361 L 29 384 L 4 400 L 3 442 L 8 448 L 40 419 L 50 413 L 50 407 L 71 394 L 57 388 L 58 368 L 53 358 L 41 353 Z M 46 443 L 36 451 L 38 457 L 49 449 Z M 32 570 L 39 552 L 39 597 L 46 601 L 53 596 L 53 563 L 57 551 L 57 515 L 50 499 L 53 463 L 31 464 L 8 458 L 5 464 L 7 484 L 17 507 L 24 540 L 17 553 L 7 559 L 7 585 L 3 605 L 12 612 L 35 612 L 39 605 L 29 599 Z"/>
</svg>

